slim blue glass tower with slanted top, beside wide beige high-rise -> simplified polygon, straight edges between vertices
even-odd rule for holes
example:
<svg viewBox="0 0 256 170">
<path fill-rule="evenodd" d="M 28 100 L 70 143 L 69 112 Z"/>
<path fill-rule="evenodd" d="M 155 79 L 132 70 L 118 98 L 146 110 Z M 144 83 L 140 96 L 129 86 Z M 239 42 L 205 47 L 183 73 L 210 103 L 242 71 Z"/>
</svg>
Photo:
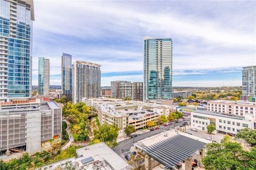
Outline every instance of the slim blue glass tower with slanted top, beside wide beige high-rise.
<svg viewBox="0 0 256 170">
<path fill-rule="evenodd" d="M 63 53 L 61 56 L 61 90 L 67 101 L 72 101 L 72 55 Z"/>
</svg>

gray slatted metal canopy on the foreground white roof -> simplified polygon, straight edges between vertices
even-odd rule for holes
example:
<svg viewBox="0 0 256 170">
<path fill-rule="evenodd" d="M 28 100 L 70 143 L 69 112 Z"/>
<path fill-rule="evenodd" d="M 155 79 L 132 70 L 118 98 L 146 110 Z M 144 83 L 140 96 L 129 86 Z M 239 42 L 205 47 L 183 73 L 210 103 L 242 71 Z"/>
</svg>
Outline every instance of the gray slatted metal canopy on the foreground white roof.
<svg viewBox="0 0 256 170">
<path fill-rule="evenodd" d="M 177 134 L 144 149 L 159 163 L 174 168 L 203 149 L 205 145 L 204 142 Z"/>
</svg>

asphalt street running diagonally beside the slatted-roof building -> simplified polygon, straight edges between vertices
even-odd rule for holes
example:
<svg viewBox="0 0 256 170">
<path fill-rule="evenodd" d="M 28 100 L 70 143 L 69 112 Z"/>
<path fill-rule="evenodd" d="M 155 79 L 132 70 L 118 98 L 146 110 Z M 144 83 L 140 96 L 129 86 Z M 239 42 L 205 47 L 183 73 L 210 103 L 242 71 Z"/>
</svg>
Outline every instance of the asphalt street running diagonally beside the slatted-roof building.
<svg viewBox="0 0 256 170">
<path fill-rule="evenodd" d="M 183 124 L 183 120 L 181 122 L 178 122 L 175 124 L 175 127 L 179 126 Z M 165 132 L 165 131 L 169 131 L 169 129 L 173 128 L 174 127 L 174 124 L 173 125 L 170 125 L 170 126 L 167 126 L 167 128 L 163 129 L 163 128 L 160 128 L 158 130 L 155 130 L 155 131 L 152 131 L 152 132 L 146 132 L 146 133 L 143 133 L 143 134 L 140 134 L 139 136 L 137 137 L 134 137 L 134 138 L 129 138 L 129 139 L 126 139 L 126 140 L 123 140 L 121 142 L 118 143 L 117 147 L 114 148 L 113 150 L 119 155 L 121 156 L 122 158 L 124 158 L 124 155 L 127 155 L 129 154 L 130 152 L 130 148 L 132 147 L 133 143 L 136 143 L 137 141 L 140 141 L 142 139 L 145 139 L 146 137 L 149 137 L 149 136 L 153 136 L 153 135 L 156 135 L 156 134 L 159 134 L 161 132 Z"/>
</svg>

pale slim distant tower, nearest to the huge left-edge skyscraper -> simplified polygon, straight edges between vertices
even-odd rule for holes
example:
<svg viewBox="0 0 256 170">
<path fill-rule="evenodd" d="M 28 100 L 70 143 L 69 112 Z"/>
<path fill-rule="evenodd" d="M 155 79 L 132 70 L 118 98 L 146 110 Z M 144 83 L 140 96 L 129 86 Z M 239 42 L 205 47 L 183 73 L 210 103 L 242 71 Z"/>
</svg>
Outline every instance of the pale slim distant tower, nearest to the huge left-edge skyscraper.
<svg viewBox="0 0 256 170">
<path fill-rule="evenodd" d="M 38 94 L 50 94 L 50 60 L 38 58 Z"/>
</svg>

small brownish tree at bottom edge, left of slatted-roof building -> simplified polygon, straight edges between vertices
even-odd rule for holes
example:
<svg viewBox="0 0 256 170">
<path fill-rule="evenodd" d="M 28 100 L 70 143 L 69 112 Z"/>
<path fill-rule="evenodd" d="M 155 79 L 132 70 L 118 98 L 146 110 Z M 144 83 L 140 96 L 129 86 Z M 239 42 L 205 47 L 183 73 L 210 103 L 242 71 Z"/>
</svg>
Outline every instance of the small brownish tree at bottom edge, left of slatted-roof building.
<svg viewBox="0 0 256 170">
<path fill-rule="evenodd" d="M 132 170 L 145 170 L 145 165 L 143 164 L 144 161 L 145 155 L 143 155 L 141 152 L 138 152 L 137 155 L 131 156 L 131 160 L 128 161 L 128 164 Z"/>
</svg>

